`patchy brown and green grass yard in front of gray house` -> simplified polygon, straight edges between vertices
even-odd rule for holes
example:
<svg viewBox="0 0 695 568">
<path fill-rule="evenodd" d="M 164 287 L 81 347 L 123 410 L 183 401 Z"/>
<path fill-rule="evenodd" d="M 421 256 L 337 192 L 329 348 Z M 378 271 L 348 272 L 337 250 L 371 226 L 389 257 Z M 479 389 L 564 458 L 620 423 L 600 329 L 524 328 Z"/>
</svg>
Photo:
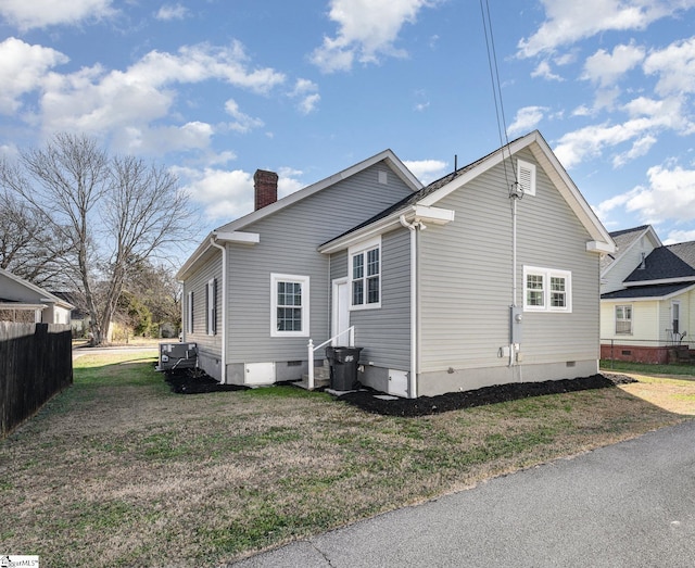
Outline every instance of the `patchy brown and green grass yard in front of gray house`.
<svg viewBox="0 0 695 568">
<path fill-rule="evenodd" d="M 695 381 L 655 378 L 384 417 L 291 387 L 173 394 L 148 357 L 79 357 L 0 442 L 0 554 L 220 566 L 695 414 Z"/>
</svg>

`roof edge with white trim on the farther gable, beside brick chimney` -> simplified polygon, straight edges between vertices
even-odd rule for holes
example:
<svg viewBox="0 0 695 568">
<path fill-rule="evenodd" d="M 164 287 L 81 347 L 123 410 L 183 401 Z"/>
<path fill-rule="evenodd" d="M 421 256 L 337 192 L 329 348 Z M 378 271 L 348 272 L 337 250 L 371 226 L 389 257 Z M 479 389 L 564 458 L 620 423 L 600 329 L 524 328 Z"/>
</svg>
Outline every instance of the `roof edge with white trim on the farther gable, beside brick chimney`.
<svg viewBox="0 0 695 568">
<path fill-rule="evenodd" d="M 405 166 L 405 164 L 401 162 L 401 160 L 393 153 L 392 150 L 383 150 L 382 152 L 363 160 L 362 162 L 354 164 L 346 169 L 339 172 L 338 174 L 333 174 L 332 176 L 312 184 L 311 186 L 295 191 L 294 193 L 291 193 L 286 198 L 279 199 L 270 205 L 266 205 L 265 207 L 254 211 L 253 213 L 249 213 L 243 217 L 239 217 L 238 219 L 227 223 L 226 225 L 217 227 L 203 239 L 193 254 L 191 254 L 191 256 L 189 256 L 189 258 L 184 263 L 181 268 L 176 274 L 176 278 L 179 280 L 182 279 L 185 275 L 190 272 L 190 269 L 195 265 L 198 260 L 201 258 L 203 254 L 207 252 L 207 250 L 210 250 L 213 241 L 229 240 L 229 237 L 237 236 L 235 237 L 235 239 L 239 238 L 240 240 L 238 242 L 242 242 L 242 240 L 249 243 L 257 242 L 253 240 L 253 237 L 250 237 L 249 233 L 243 233 L 242 230 L 249 225 L 268 217 L 269 215 L 273 215 L 278 211 L 293 205 L 294 203 L 298 203 L 315 193 L 318 193 L 319 191 L 323 191 L 324 189 L 331 187 L 334 184 L 342 181 L 343 179 L 348 179 L 349 177 L 354 176 L 355 174 L 358 174 L 378 164 L 379 162 L 384 162 L 390 167 L 390 169 L 413 191 L 416 192 L 422 188 L 422 184 L 412 174 L 412 172 Z"/>
</svg>

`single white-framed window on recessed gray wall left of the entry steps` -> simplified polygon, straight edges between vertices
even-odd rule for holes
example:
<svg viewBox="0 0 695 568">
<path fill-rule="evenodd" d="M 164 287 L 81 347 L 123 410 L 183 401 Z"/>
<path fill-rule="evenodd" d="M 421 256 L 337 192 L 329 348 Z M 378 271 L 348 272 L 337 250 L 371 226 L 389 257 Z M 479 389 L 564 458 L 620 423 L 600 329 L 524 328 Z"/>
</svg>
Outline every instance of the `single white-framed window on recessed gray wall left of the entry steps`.
<svg viewBox="0 0 695 568">
<path fill-rule="evenodd" d="M 308 337 L 308 276 L 270 275 L 270 337 Z"/>
</svg>

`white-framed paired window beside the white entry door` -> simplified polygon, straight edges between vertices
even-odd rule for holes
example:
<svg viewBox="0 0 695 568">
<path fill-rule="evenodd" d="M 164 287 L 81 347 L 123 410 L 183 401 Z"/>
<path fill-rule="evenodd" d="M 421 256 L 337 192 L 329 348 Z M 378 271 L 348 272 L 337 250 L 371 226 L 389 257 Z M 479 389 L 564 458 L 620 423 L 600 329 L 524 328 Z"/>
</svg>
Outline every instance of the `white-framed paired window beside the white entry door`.
<svg viewBox="0 0 695 568">
<path fill-rule="evenodd" d="M 351 247 L 351 310 L 381 307 L 381 237 Z"/>
</svg>

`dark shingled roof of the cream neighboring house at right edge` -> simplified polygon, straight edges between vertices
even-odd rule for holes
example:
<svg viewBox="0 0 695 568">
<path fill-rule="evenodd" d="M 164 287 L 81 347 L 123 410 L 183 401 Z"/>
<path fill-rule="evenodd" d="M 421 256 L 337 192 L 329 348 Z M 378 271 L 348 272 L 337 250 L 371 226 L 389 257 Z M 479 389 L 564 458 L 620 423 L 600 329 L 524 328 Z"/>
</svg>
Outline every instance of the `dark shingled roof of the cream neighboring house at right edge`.
<svg viewBox="0 0 695 568">
<path fill-rule="evenodd" d="M 645 258 L 644 268 L 635 268 L 624 283 L 636 286 L 637 282 L 669 281 L 695 281 L 695 241 L 654 249 Z"/>
</svg>

